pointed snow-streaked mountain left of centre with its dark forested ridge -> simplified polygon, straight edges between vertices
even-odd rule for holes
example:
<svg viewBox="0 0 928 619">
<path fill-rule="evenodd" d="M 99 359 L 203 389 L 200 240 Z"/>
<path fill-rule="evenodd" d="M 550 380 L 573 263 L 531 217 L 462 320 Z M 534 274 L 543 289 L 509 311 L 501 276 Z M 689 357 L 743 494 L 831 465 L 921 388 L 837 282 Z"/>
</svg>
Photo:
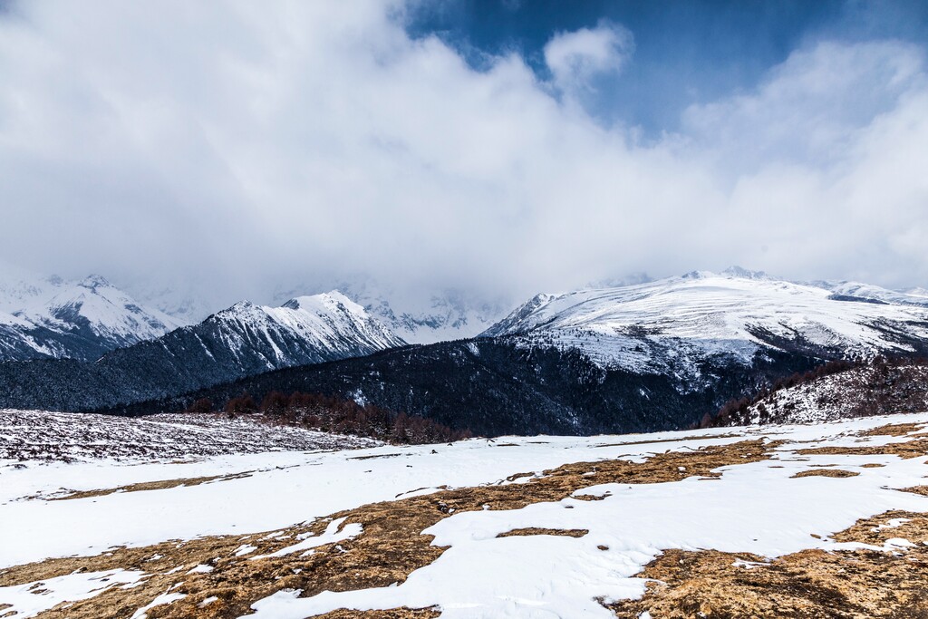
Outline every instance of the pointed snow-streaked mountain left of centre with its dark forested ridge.
<svg viewBox="0 0 928 619">
<path fill-rule="evenodd" d="M 242 302 L 93 363 L 0 364 L 0 408 L 121 406 L 405 343 L 338 291 L 297 297 L 279 307 Z"/>
</svg>

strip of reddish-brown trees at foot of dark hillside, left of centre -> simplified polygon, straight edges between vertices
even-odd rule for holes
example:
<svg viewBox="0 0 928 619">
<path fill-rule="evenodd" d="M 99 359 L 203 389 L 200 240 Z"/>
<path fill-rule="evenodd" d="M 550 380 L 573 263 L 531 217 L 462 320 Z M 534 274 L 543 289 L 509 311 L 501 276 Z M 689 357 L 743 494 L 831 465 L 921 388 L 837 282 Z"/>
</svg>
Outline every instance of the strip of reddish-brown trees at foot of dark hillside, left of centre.
<svg viewBox="0 0 928 619">
<path fill-rule="evenodd" d="M 271 392 L 259 404 L 248 393 L 213 406 L 213 401 L 200 398 L 187 408 L 191 413 L 225 412 L 230 418 L 238 415 L 263 415 L 264 419 L 320 432 L 367 436 L 387 443 L 425 445 L 447 443 L 469 438 L 470 431 L 453 430 L 437 421 L 370 404 L 359 405 L 354 400 L 320 393 Z"/>
</svg>

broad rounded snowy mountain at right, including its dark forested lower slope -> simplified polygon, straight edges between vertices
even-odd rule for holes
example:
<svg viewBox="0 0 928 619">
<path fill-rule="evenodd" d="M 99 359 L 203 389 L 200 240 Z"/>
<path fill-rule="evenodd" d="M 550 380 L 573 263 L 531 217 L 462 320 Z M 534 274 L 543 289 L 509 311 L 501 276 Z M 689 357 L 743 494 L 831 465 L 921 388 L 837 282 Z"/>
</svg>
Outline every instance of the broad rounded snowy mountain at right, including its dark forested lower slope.
<svg viewBox="0 0 928 619">
<path fill-rule="evenodd" d="M 674 429 L 827 360 L 928 354 L 920 299 L 845 292 L 732 269 L 541 294 L 478 338 L 269 372 L 129 410 L 303 391 L 490 435 Z"/>
</svg>

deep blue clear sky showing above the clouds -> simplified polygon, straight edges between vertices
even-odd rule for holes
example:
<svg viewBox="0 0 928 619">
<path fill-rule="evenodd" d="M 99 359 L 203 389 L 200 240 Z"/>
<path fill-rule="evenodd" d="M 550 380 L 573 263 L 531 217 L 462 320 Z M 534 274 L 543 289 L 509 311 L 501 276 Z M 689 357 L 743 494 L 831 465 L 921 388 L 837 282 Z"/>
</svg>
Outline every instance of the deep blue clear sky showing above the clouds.
<svg viewBox="0 0 928 619">
<path fill-rule="evenodd" d="M 588 107 L 649 133 L 676 131 L 690 104 L 751 89 L 794 50 L 821 40 L 928 41 L 928 3 L 919 0 L 444 0 L 416 6 L 407 30 L 442 37 L 475 68 L 485 53 L 516 50 L 546 77 L 548 40 L 600 19 L 625 26 L 635 49 Z"/>
</svg>

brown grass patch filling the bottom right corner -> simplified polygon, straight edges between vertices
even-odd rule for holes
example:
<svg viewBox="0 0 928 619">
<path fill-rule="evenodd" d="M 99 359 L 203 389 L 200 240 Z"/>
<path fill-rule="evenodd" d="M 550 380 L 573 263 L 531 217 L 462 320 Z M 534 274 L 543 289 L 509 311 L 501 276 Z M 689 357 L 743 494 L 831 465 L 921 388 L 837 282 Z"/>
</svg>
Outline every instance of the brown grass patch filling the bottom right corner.
<svg viewBox="0 0 928 619">
<path fill-rule="evenodd" d="M 893 518 L 897 527 L 878 528 Z M 873 531 L 873 529 L 877 529 Z M 928 514 L 890 511 L 834 535 L 875 546 L 903 537 L 913 548 L 802 550 L 775 560 L 716 550 L 668 550 L 639 574 L 641 600 L 609 604 L 619 617 L 928 617 Z M 737 562 L 736 562 L 737 561 Z"/>
</svg>

